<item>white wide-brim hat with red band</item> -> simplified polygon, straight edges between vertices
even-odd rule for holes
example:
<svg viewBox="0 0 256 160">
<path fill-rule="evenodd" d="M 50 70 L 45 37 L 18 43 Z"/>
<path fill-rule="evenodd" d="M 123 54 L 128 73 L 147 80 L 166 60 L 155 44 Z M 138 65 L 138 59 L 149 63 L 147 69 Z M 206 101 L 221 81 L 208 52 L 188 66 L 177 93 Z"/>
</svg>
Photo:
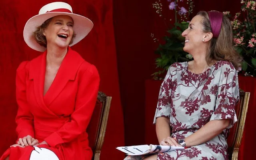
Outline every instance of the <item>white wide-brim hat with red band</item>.
<svg viewBox="0 0 256 160">
<path fill-rule="evenodd" d="M 30 18 L 24 26 L 23 37 L 30 48 L 40 52 L 46 50 L 44 46 L 41 46 L 36 42 L 34 32 L 37 27 L 41 26 L 46 20 L 58 15 L 70 16 L 74 21 L 73 29 L 76 37 L 73 39 L 73 43 L 69 46 L 77 44 L 92 30 L 92 21 L 84 16 L 74 14 L 72 7 L 69 4 L 65 2 L 52 2 L 43 6 L 40 9 L 39 14 Z"/>
</svg>

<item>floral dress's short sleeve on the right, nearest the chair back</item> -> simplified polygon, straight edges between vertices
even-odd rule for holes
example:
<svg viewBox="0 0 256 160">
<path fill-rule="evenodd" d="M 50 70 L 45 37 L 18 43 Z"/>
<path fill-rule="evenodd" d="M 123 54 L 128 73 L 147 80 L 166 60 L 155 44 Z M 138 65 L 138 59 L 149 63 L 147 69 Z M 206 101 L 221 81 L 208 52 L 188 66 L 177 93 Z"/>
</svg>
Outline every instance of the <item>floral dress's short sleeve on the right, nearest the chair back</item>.
<svg viewBox="0 0 256 160">
<path fill-rule="evenodd" d="M 234 66 L 224 64 L 220 71 L 220 82 L 216 98 L 215 110 L 210 120 L 230 119 L 227 128 L 237 122 L 235 106 L 239 100 L 238 74 Z"/>
</svg>

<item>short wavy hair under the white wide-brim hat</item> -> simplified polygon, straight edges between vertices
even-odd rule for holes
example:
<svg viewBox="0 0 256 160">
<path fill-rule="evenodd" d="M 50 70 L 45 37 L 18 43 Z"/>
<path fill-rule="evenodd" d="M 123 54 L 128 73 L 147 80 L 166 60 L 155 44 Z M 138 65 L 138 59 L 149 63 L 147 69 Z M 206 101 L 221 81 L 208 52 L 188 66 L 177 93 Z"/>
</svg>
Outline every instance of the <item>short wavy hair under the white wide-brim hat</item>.
<svg viewBox="0 0 256 160">
<path fill-rule="evenodd" d="M 53 17 L 52 17 L 53 18 Z M 44 36 L 44 30 L 49 26 L 50 22 L 52 21 L 52 18 L 49 18 L 48 20 L 44 21 L 44 23 L 41 26 L 38 26 L 36 28 L 36 31 L 34 32 L 34 38 L 36 39 L 36 42 L 40 44 L 41 46 L 47 47 L 47 40 Z M 76 37 L 75 32 L 73 33 L 72 40 L 69 44 L 73 43 L 74 38 Z"/>
</svg>

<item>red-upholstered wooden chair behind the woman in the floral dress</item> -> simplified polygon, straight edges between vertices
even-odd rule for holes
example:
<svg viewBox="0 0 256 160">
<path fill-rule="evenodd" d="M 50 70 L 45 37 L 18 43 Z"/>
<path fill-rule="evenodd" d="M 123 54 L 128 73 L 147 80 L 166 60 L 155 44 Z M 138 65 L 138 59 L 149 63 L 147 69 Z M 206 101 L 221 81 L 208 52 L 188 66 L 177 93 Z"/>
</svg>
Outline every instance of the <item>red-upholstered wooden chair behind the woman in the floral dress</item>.
<svg viewBox="0 0 256 160">
<path fill-rule="evenodd" d="M 236 122 L 234 126 L 230 129 L 230 134 L 228 136 L 229 160 L 238 160 L 238 151 L 244 132 L 244 124 L 248 109 L 249 98 L 250 92 L 244 92 L 240 90 L 240 100 L 235 108 L 238 122 Z"/>
</svg>

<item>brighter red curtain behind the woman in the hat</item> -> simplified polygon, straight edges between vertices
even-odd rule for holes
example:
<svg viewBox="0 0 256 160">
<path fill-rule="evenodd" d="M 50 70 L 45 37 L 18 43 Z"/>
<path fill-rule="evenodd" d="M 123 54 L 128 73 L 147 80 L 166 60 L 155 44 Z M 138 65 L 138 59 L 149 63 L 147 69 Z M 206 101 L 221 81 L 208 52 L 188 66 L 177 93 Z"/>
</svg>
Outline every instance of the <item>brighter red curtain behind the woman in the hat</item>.
<svg viewBox="0 0 256 160">
<path fill-rule="evenodd" d="M 26 21 L 53 0 L 0 0 L 0 155 L 16 140 L 14 118 L 15 74 L 20 62 L 31 60 L 40 53 L 30 49 L 23 40 Z M 112 105 L 101 152 L 102 160 L 120 160 L 124 154 L 115 148 L 124 145 L 124 124 L 120 102 L 116 47 L 112 19 L 112 0 L 63 0 L 74 13 L 87 16 L 94 28 L 81 42 L 72 47 L 98 68 L 100 90 L 112 96 Z M 114 158 L 112 158 L 114 157 Z"/>
</svg>

